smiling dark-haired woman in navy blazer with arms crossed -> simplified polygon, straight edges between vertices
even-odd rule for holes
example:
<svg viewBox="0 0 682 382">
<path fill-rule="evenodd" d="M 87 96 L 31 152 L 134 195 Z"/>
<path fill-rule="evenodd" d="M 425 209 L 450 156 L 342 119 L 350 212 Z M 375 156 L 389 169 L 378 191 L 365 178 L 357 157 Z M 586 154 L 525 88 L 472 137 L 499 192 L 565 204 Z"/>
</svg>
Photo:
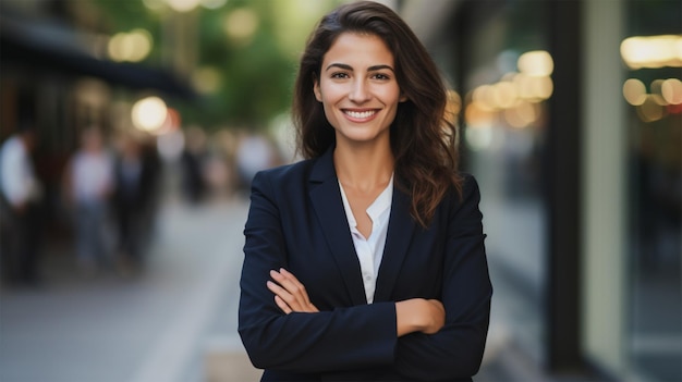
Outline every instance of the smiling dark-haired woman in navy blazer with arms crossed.
<svg viewBox="0 0 682 382">
<path fill-rule="evenodd" d="M 492 293 L 479 192 L 438 70 L 375 2 L 325 16 L 293 115 L 306 160 L 258 173 L 239 332 L 264 381 L 471 381 Z"/>
</svg>

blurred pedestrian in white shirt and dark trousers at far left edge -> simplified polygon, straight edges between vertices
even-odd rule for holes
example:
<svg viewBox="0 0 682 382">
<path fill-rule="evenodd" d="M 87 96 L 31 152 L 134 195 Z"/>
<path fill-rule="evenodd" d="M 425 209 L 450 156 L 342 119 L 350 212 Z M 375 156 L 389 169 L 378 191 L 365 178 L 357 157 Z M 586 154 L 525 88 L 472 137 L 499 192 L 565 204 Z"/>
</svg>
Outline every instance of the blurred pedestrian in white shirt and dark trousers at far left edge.
<svg viewBox="0 0 682 382">
<path fill-rule="evenodd" d="M 39 283 L 41 242 L 39 206 L 42 186 L 36 176 L 32 152 L 37 131 L 22 123 L 0 149 L 0 244 L 2 275 L 9 283 Z"/>
</svg>

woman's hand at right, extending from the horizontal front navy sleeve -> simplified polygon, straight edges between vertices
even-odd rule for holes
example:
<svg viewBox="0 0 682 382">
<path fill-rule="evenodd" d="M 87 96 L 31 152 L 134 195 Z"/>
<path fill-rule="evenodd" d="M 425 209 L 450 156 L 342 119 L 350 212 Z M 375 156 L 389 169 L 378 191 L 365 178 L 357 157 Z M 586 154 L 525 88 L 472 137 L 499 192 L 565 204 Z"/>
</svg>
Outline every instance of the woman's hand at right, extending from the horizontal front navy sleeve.
<svg viewBox="0 0 682 382">
<path fill-rule="evenodd" d="M 395 303 L 398 336 L 437 333 L 446 324 L 446 308 L 437 299 L 411 298 Z"/>
</svg>

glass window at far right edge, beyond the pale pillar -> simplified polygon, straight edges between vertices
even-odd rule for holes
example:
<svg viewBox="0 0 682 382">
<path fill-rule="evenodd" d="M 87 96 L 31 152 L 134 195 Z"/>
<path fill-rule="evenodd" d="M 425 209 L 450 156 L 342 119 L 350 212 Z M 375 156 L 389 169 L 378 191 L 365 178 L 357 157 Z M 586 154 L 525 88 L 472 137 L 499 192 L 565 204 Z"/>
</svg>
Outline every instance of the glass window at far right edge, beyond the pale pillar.
<svg viewBox="0 0 682 382">
<path fill-rule="evenodd" d="M 629 352 L 644 380 L 681 381 L 682 3 L 626 4 Z"/>
</svg>

